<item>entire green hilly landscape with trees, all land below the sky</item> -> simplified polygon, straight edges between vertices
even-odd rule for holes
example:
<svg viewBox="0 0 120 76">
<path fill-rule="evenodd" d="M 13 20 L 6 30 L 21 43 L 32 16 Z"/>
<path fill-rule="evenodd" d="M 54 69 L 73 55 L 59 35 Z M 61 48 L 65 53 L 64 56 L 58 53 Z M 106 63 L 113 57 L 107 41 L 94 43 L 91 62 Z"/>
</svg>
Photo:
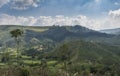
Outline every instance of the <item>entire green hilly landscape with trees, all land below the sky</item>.
<svg viewBox="0 0 120 76">
<path fill-rule="evenodd" d="M 120 34 L 75 26 L 0 26 L 0 76 L 120 76 Z"/>
</svg>

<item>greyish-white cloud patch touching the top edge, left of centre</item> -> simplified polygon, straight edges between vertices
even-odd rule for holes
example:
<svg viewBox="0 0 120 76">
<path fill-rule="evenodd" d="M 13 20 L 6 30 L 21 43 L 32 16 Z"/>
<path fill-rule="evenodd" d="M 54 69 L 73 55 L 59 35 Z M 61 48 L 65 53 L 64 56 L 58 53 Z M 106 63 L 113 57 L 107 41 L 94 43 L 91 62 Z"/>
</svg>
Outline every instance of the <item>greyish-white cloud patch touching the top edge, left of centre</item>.
<svg viewBox="0 0 120 76">
<path fill-rule="evenodd" d="M 29 7 L 38 7 L 41 0 L 12 0 L 12 8 L 26 10 Z"/>
</svg>

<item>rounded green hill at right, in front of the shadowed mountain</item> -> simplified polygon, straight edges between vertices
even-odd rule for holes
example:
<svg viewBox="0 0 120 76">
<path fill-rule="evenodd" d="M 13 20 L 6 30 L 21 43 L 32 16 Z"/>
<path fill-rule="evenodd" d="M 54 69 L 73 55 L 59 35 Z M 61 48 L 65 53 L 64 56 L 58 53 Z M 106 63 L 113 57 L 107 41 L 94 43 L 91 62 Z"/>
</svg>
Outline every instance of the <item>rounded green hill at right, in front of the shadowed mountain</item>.
<svg viewBox="0 0 120 76">
<path fill-rule="evenodd" d="M 63 45 L 67 46 L 68 49 L 64 50 Z M 73 62 L 112 65 L 120 62 L 119 50 L 120 48 L 116 46 L 73 40 L 57 47 L 52 52 L 52 56 L 59 58 L 62 55 L 68 55 L 69 60 Z"/>
</svg>

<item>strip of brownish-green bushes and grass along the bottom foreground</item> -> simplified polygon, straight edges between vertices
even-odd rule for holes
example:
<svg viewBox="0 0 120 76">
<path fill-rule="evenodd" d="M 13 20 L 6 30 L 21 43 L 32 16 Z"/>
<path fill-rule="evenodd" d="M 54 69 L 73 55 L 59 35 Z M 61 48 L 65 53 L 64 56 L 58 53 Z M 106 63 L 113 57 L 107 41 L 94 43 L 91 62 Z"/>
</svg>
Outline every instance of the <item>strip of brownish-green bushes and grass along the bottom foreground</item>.
<svg viewBox="0 0 120 76">
<path fill-rule="evenodd" d="M 110 67 L 100 64 L 90 66 L 78 64 L 64 68 L 48 68 L 42 66 L 6 66 L 0 68 L 0 76 L 120 76 L 119 70 L 115 65 Z"/>
</svg>

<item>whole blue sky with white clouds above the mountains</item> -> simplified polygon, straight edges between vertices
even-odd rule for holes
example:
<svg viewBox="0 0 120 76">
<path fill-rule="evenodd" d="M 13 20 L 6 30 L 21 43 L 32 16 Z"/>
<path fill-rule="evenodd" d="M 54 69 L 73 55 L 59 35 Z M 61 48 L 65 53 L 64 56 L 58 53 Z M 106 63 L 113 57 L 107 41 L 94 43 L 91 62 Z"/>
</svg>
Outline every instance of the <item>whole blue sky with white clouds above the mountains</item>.
<svg viewBox="0 0 120 76">
<path fill-rule="evenodd" d="M 0 0 L 0 25 L 120 28 L 120 0 Z"/>
</svg>

